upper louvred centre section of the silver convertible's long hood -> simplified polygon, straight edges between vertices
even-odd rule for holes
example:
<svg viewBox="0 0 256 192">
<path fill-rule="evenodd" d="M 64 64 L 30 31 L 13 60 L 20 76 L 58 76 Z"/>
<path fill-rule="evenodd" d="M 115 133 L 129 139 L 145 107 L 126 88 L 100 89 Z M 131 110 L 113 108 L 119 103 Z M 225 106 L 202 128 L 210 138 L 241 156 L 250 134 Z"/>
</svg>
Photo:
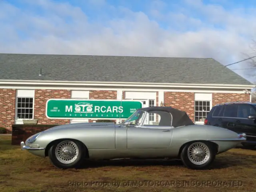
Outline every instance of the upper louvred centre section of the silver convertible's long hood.
<svg viewBox="0 0 256 192">
<path fill-rule="evenodd" d="M 67 129 L 67 128 L 91 128 L 91 127 L 97 128 L 97 127 L 102 127 L 102 126 L 115 126 L 114 123 L 110 122 L 100 122 L 100 123 L 73 123 L 73 124 L 64 124 L 64 125 L 58 125 L 49 129 L 44 130 L 50 131 L 50 130 L 56 130 L 56 129 Z"/>
</svg>

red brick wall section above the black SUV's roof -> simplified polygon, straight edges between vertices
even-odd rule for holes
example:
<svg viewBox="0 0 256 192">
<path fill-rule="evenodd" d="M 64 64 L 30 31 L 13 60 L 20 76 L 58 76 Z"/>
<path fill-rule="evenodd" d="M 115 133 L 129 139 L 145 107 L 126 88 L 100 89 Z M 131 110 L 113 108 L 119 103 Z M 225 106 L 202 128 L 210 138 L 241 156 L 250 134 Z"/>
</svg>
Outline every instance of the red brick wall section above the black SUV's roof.
<svg viewBox="0 0 256 192">
<path fill-rule="evenodd" d="M 250 94 L 243 93 L 213 93 L 212 106 L 225 102 L 250 101 Z"/>
</svg>

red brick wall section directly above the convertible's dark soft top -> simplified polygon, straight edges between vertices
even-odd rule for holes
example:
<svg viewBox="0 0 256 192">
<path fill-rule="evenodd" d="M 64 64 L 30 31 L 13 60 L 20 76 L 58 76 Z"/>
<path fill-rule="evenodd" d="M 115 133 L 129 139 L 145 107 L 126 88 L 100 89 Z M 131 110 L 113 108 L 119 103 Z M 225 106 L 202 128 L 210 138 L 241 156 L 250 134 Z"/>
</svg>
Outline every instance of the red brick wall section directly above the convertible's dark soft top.
<svg viewBox="0 0 256 192">
<path fill-rule="evenodd" d="M 164 105 L 186 111 L 194 122 L 194 93 L 192 92 L 164 92 Z"/>
</svg>

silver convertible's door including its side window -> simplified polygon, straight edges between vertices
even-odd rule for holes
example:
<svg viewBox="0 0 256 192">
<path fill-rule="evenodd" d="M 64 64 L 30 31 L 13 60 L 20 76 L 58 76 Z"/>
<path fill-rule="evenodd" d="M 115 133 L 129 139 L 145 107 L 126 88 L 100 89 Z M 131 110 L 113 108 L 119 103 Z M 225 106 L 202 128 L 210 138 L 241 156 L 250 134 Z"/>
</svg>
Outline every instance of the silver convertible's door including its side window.
<svg viewBox="0 0 256 192">
<path fill-rule="evenodd" d="M 150 111 L 150 116 L 155 116 L 153 124 L 146 115 L 140 127 L 127 128 L 127 149 L 167 149 L 170 148 L 172 139 L 171 120 L 168 112 Z"/>
</svg>

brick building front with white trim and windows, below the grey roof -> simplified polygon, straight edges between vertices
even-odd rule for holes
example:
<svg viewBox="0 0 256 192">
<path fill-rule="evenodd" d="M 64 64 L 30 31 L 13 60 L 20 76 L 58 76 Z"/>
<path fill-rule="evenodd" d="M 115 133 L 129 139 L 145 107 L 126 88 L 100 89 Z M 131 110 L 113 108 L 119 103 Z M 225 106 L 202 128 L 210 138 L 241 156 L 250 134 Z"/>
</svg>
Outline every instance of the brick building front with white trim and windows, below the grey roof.
<svg viewBox="0 0 256 192">
<path fill-rule="evenodd" d="M 67 124 L 93 122 L 101 118 L 49 119 L 46 117 L 46 102 L 49 99 L 83 100 L 134 100 L 146 106 L 172 106 L 184 110 L 197 124 L 202 124 L 212 106 L 232 101 L 250 101 L 250 94 L 244 93 L 248 87 L 194 88 L 194 90 L 173 88 L 60 88 L 34 86 L 2 86 L 0 89 L 0 126 L 11 130 L 12 124 L 23 124 L 24 119 L 38 120 L 38 124 Z M 154 117 L 153 117 L 154 118 Z M 108 118 L 104 118 L 108 119 Z M 108 120 L 119 121 L 119 118 Z"/>
</svg>

